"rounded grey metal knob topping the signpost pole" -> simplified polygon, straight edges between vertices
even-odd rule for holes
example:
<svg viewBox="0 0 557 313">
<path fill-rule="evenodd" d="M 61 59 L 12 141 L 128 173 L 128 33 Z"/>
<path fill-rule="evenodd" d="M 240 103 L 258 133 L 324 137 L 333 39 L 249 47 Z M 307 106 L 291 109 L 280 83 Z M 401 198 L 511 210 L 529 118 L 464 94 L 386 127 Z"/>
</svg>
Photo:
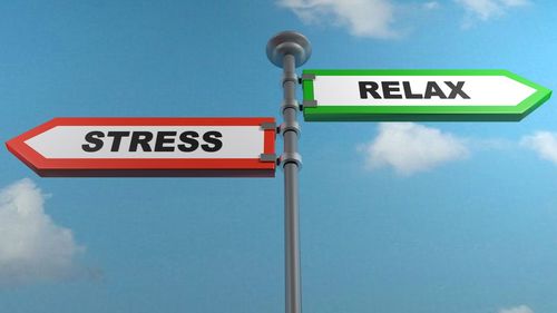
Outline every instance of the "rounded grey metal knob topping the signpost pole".
<svg viewBox="0 0 557 313">
<path fill-rule="evenodd" d="M 300 32 L 278 32 L 267 42 L 267 58 L 273 65 L 282 68 L 286 55 L 292 55 L 295 58 L 296 67 L 302 66 L 312 55 L 310 40 Z"/>
</svg>

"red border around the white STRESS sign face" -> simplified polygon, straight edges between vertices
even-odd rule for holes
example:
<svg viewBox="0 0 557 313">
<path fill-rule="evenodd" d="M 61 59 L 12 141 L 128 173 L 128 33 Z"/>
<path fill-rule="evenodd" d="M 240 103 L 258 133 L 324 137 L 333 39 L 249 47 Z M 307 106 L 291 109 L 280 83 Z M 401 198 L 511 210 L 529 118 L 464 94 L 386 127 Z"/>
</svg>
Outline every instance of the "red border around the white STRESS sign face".
<svg viewBox="0 0 557 313">
<path fill-rule="evenodd" d="M 42 177 L 274 177 L 276 163 L 257 158 L 57 158 L 48 159 L 25 144 L 56 126 L 258 126 L 272 117 L 61 117 L 6 143 L 8 149 Z M 264 130 L 264 154 L 275 154 L 276 129 Z"/>
</svg>

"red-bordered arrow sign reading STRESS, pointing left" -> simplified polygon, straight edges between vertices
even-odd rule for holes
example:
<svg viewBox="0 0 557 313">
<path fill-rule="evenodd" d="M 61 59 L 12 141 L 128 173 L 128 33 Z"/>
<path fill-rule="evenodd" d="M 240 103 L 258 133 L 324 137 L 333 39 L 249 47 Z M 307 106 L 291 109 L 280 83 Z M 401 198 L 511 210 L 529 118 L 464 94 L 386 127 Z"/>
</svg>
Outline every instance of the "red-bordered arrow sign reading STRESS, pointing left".
<svg viewBox="0 0 557 313">
<path fill-rule="evenodd" d="M 40 176 L 274 177 L 274 118 L 55 118 L 7 143 Z"/>
</svg>

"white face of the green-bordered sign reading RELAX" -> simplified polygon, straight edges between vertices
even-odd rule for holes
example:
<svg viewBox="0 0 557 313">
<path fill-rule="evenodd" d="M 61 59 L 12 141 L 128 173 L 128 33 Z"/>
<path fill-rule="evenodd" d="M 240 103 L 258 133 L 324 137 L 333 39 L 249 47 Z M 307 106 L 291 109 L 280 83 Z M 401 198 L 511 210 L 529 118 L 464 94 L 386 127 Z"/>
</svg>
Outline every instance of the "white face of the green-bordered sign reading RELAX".
<svg viewBox="0 0 557 313">
<path fill-rule="evenodd" d="M 516 106 L 536 89 L 505 76 L 317 76 L 319 106 Z"/>
</svg>

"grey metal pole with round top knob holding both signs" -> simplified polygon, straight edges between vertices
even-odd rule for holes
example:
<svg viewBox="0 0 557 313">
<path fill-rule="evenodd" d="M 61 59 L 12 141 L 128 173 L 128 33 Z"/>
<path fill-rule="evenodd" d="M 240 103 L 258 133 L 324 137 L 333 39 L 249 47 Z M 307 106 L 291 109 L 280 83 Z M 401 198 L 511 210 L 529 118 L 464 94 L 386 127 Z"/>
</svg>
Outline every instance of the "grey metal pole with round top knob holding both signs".
<svg viewBox="0 0 557 313">
<path fill-rule="evenodd" d="M 284 169 L 284 276 L 285 312 L 302 312 L 302 290 L 300 271 L 300 223 L 297 174 L 302 157 L 297 153 L 300 125 L 296 100 L 296 67 L 303 65 L 311 55 L 307 39 L 297 32 L 285 31 L 273 37 L 267 43 L 267 57 L 283 68 L 282 85 L 284 100 L 281 107 L 284 123 L 280 131 L 284 138 L 284 151 L 280 158 Z"/>
</svg>

